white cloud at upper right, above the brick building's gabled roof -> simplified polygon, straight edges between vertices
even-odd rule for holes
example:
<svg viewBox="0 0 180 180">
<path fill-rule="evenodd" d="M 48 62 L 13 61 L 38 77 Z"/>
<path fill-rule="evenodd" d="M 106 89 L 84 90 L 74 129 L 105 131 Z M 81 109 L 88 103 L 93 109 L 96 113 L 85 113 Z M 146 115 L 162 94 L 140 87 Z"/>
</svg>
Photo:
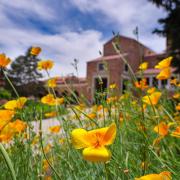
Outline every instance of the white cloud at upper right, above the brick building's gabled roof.
<svg viewBox="0 0 180 180">
<path fill-rule="evenodd" d="M 83 13 L 101 13 L 102 23 L 116 24 L 120 34 L 133 37 L 133 29 L 138 26 L 140 40 L 157 52 L 165 49 L 165 38 L 153 35 L 157 20 L 165 16 L 165 12 L 156 8 L 147 0 L 71 0 Z M 134 38 L 134 37 L 133 37 Z"/>
</svg>

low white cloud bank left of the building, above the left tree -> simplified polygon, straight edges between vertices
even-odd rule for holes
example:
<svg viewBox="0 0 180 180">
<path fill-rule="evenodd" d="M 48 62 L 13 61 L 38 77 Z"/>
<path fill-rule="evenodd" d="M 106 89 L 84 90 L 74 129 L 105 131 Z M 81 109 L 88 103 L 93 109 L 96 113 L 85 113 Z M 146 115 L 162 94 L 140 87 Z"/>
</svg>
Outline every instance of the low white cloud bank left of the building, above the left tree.
<svg viewBox="0 0 180 180">
<path fill-rule="evenodd" d="M 0 41 L 9 45 L 2 50 L 11 58 L 22 54 L 31 45 L 42 47 L 40 57 L 55 61 L 52 76 L 74 72 L 70 65 L 74 58 L 79 60 L 79 75 L 85 76 L 86 61 L 96 58 L 104 43 L 102 34 L 93 30 L 45 35 L 36 31 L 1 29 L 0 34 Z"/>
</svg>

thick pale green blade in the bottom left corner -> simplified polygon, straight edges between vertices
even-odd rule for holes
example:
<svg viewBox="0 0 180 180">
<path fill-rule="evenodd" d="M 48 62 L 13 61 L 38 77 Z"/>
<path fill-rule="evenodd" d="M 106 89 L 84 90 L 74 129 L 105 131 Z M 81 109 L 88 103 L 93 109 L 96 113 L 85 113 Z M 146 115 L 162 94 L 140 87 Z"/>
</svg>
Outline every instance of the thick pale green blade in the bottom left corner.
<svg viewBox="0 0 180 180">
<path fill-rule="evenodd" d="M 11 178 L 12 180 L 16 180 L 16 174 L 15 174 L 15 171 L 14 171 L 14 168 L 13 168 L 13 164 L 9 158 L 9 155 L 8 153 L 6 152 L 6 150 L 4 149 L 4 146 L 0 143 L 0 151 L 6 161 L 6 164 L 10 170 L 10 173 L 11 173 Z"/>
</svg>

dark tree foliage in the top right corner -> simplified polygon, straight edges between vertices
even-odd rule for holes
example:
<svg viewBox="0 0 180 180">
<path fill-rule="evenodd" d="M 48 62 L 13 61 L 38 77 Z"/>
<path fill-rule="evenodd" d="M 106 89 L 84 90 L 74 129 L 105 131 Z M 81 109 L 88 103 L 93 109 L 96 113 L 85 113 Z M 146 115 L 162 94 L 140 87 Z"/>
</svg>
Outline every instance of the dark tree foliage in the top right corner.
<svg viewBox="0 0 180 180">
<path fill-rule="evenodd" d="M 160 29 L 154 33 L 167 37 L 168 53 L 174 57 L 173 65 L 180 71 L 180 0 L 149 0 L 167 12 L 165 18 L 158 20 Z"/>
</svg>

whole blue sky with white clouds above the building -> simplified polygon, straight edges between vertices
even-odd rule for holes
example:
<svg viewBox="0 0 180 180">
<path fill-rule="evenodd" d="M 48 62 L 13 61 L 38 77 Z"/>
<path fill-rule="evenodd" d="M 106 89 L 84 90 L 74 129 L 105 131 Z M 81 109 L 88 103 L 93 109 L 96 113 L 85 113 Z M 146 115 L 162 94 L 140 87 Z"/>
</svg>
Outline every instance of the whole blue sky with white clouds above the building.
<svg viewBox="0 0 180 180">
<path fill-rule="evenodd" d="M 152 34 L 166 13 L 148 0 L 0 0 L 0 53 L 14 60 L 30 46 L 40 46 L 39 58 L 51 59 L 51 76 L 66 76 L 75 70 L 86 76 L 86 62 L 99 57 L 112 31 L 139 39 L 160 53 L 165 38 Z"/>
</svg>

